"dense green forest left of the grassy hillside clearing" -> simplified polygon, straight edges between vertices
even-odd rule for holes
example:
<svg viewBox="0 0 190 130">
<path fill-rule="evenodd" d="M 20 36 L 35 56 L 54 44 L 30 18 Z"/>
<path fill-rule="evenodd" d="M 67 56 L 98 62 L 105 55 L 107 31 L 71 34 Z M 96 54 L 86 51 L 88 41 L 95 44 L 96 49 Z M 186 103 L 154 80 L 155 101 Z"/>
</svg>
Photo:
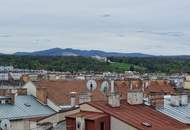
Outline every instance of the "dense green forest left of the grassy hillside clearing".
<svg viewBox="0 0 190 130">
<path fill-rule="evenodd" d="M 0 65 L 20 69 L 45 69 L 50 71 L 109 71 L 109 63 L 84 57 L 0 56 Z"/>
</svg>

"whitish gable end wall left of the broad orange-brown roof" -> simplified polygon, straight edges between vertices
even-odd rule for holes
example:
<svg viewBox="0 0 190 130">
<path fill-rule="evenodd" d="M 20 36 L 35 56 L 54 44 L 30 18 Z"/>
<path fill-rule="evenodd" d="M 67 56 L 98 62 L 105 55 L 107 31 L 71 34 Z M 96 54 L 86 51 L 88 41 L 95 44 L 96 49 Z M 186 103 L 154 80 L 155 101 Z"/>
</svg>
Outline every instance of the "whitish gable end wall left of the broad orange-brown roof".
<svg viewBox="0 0 190 130">
<path fill-rule="evenodd" d="M 26 83 L 23 88 L 27 88 L 27 95 L 36 97 L 36 86 L 32 82 Z"/>
</svg>

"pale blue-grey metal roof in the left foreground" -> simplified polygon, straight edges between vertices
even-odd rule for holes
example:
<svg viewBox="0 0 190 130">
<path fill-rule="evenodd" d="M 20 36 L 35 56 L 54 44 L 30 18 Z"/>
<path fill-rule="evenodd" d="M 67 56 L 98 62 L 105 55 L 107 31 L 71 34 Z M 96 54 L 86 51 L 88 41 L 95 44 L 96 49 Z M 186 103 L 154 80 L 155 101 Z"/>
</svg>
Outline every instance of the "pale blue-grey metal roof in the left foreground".
<svg viewBox="0 0 190 130">
<path fill-rule="evenodd" d="M 0 104 L 0 120 L 43 117 L 53 113 L 51 108 L 39 103 L 33 96 L 16 96 L 15 105 Z"/>
</svg>

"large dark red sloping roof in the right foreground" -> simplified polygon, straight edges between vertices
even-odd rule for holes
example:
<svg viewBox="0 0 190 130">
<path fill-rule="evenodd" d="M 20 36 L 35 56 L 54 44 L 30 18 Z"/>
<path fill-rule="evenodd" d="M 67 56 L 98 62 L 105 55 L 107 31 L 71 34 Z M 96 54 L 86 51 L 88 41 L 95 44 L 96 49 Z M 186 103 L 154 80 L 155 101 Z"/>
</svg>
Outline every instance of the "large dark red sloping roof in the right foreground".
<svg viewBox="0 0 190 130">
<path fill-rule="evenodd" d="M 126 101 L 121 102 L 119 108 L 112 108 L 105 101 L 88 103 L 89 105 L 109 114 L 128 125 L 139 130 L 181 130 L 190 128 L 173 118 L 170 118 L 145 105 L 129 105 Z M 143 122 L 151 124 L 151 127 L 145 127 Z"/>
</svg>

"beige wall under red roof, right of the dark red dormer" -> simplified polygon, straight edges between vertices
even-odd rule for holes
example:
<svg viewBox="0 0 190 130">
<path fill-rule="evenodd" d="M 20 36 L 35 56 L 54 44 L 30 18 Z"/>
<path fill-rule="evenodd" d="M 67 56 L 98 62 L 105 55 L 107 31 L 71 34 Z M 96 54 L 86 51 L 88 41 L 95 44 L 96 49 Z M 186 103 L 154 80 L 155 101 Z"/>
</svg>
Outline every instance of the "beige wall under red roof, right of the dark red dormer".
<svg viewBox="0 0 190 130">
<path fill-rule="evenodd" d="M 114 118 L 111 117 L 111 129 L 110 130 L 137 130 L 136 128 Z"/>
</svg>

